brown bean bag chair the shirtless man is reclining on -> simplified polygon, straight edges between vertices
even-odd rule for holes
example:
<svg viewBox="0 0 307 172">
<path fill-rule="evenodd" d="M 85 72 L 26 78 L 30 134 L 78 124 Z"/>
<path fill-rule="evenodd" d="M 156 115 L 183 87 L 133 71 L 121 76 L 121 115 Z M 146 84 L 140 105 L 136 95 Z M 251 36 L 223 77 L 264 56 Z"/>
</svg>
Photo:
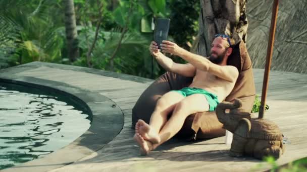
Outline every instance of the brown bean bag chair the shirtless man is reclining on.
<svg viewBox="0 0 307 172">
<path fill-rule="evenodd" d="M 239 77 L 234 89 L 225 101 L 231 102 L 235 98 L 242 100 L 241 111 L 250 112 L 255 97 L 255 87 L 252 73 L 252 64 L 243 41 L 233 48 L 233 53 L 228 58 L 228 65 L 238 68 Z M 158 99 L 171 90 L 179 90 L 192 82 L 192 77 L 184 77 L 176 73 L 166 72 L 142 93 L 132 109 L 132 128 L 138 119 L 149 123 L 150 115 L 156 107 Z M 225 135 L 215 112 L 201 112 L 191 114 L 185 120 L 183 127 L 176 136 L 185 139 L 214 138 Z"/>
</svg>

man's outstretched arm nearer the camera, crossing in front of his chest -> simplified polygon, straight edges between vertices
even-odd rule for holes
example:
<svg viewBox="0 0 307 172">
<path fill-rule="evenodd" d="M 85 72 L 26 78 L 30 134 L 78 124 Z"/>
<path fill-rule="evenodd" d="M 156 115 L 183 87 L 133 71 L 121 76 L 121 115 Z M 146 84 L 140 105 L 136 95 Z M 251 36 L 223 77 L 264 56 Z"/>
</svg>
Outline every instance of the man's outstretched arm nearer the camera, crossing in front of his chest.
<svg viewBox="0 0 307 172">
<path fill-rule="evenodd" d="M 167 50 L 170 53 L 180 56 L 184 60 L 188 61 L 190 64 L 195 66 L 199 70 L 208 71 L 224 80 L 235 82 L 238 77 L 238 69 L 234 66 L 220 66 L 212 63 L 205 57 L 197 54 L 193 54 L 185 49 L 179 47 L 177 44 L 170 41 L 165 41 L 168 45 L 173 44 L 174 50 Z"/>
</svg>

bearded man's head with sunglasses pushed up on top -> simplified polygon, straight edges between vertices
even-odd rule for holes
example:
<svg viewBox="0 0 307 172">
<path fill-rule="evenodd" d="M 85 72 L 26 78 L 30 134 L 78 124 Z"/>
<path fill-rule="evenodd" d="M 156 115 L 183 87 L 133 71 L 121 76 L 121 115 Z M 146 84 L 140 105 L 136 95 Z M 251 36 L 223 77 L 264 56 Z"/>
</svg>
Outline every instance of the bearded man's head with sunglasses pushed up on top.
<svg viewBox="0 0 307 172">
<path fill-rule="evenodd" d="M 217 34 L 211 44 L 211 52 L 209 60 L 215 64 L 221 64 L 223 61 L 226 64 L 228 56 L 232 53 L 231 45 L 234 40 L 228 35 Z"/>
</svg>

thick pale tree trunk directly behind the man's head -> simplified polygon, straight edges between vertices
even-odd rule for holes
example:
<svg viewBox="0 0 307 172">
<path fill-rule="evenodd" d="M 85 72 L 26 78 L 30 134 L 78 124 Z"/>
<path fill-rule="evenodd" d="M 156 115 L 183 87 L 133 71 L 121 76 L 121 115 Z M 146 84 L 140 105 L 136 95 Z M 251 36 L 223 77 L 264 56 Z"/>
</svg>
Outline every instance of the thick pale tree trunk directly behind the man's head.
<svg viewBox="0 0 307 172">
<path fill-rule="evenodd" d="M 235 43 L 246 42 L 245 0 L 200 0 L 197 53 L 210 56 L 211 43 L 218 33 L 230 35 Z"/>
</svg>

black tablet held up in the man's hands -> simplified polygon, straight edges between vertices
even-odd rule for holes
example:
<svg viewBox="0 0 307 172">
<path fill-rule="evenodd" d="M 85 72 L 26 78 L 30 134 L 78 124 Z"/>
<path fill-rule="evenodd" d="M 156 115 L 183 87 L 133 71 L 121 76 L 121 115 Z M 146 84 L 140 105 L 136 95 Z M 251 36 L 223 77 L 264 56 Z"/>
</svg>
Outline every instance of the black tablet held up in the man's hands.
<svg viewBox="0 0 307 172">
<path fill-rule="evenodd" d="M 167 40 L 170 28 L 170 19 L 158 18 L 155 24 L 154 41 L 157 42 L 159 49 L 163 40 Z"/>
</svg>

